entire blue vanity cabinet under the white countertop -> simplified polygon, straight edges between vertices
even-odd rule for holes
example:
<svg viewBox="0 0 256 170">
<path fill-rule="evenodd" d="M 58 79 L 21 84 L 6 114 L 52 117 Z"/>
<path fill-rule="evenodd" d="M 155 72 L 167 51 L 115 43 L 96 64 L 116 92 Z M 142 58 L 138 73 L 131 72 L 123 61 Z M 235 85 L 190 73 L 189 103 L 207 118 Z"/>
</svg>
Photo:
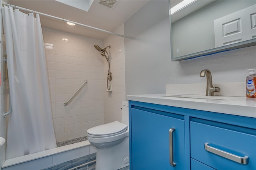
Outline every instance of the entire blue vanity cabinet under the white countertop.
<svg viewBox="0 0 256 170">
<path fill-rule="evenodd" d="M 256 170 L 256 118 L 129 101 L 129 121 L 130 170 Z"/>
</svg>

